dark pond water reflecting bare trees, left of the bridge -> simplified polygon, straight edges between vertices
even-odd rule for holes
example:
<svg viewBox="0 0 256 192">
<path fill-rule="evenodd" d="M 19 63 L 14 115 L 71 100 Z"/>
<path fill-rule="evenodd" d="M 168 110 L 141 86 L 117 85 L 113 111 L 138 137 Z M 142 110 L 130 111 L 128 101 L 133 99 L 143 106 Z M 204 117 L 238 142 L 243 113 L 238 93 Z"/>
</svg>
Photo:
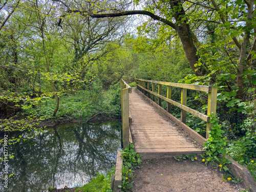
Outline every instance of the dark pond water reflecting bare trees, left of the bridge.
<svg viewBox="0 0 256 192">
<path fill-rule="evenodd" d="M 0 191 L 48 191 L 48 187 L 82 186 L 115 166 L 120 146 L 120 121 L 66 124 L 8 146 L 8 188 L 1 163 Z M 8 135 L 8 137 L 13 137 Z M 1 158 L 4 150 L 0 148 Z"/>
</svg>

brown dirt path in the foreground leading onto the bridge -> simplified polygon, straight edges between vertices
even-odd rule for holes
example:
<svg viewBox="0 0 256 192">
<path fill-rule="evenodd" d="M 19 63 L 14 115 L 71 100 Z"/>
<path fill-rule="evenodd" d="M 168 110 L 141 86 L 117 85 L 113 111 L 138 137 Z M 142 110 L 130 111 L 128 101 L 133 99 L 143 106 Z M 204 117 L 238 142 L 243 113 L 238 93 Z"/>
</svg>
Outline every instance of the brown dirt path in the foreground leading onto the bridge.
<svg viewBox="0 0 256 192">
<path fill-rule="evenodd" d="M 141 167 L 135 170 L 133 192 L 234 192 L 244 188 L 241 184 L 223 181 L 222 172 L 199 161 L 144 160 Z"/>
</svg>

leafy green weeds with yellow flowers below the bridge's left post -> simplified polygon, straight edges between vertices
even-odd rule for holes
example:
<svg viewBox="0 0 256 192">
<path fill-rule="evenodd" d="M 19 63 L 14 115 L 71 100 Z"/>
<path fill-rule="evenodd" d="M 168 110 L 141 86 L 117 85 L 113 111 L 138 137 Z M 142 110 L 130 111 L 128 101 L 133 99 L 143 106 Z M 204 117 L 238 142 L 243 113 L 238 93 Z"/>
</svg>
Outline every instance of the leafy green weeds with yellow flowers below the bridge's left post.
<svg viewBox="0 0 256 192">
<path fill-rule="evenodd" d="M 131 179 L 134 177 L 134 168 L 139 167 L 141 155 L 134 151 L 134 145 L 130 144 L 126 146 L 121 152 L 121 158 L 123 159 L 122 165 L 122 191 L 132 191 L 133 182 Z"/>
</svg>

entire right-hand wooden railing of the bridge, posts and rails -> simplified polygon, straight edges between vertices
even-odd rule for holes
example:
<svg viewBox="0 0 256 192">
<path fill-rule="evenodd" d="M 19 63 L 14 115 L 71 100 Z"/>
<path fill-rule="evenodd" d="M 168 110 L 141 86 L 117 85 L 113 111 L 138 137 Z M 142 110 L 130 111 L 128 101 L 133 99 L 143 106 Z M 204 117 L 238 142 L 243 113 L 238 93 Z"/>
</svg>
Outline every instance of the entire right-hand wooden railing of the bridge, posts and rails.
<svg viewBox="0 0 256 192">
<path fill-rule="evenodd" d="M 217 88 L 211 86 L 199 86 L 196 84 L 184 84 L 184 83 L 174 83 L 174 82 L 164 82 L 164 81 L 154 81 L 154 80 L 146 80 L 146 79 L 139 79 L 138 80 L 137 88 L 147 97 L 150 97 L 150 93 L 152 94 L 152 100 L 155 101 L 155 96 L 158 97 L 158 104 L 161 106 L 162 99 L 167 101 L 167 112 L 170 113 L 170 104 L 178 106 L 181 109 L 181 121 L 186 124 L 186 112 L 199 117 L 200 119 L 206 121 L 206 139 L 209 137 L 208 131 L 211 130 L 212 124 L 209 122 L 210 114 L 216 115 L 216 106 L 217 106 Z M 147 82 L 147 89 L 146 89 L 146 82 Z M 152 91 L 150 90 L 150 83 L 152 83 Z M 155 84 L 158 84 L 158 94 L 155 93 Z M 161 95 L 162 93 L 162 85 L 167 86 L 167 97 Z M 181 103 L 172 100 L 172 87 L 181 88 Z M 197 90 L 203 91 L 208 93 L 208 108 L 207 108 L 207 115 L 202 114 L 194 109 L 189 108 L 186 106 L 187 104 L 187 89 L 190 90 Z"/>
</svg>

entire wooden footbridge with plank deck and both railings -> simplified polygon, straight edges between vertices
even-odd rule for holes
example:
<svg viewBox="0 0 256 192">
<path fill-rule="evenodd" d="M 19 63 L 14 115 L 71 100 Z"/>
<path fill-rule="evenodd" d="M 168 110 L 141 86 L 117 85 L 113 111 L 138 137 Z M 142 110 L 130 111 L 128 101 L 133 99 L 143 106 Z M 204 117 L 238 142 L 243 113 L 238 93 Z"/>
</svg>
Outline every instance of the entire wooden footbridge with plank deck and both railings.
<svg viewBox="0 0 256 192">
<path fill-rule="evenodd" d="M 161 95 L 162 85 L 167 86 L 167 97 Z M 137 79 L 136 91 L 123 80 L 120 86 L 123 147 L 133 142 L 135 151 L 143 159 L 204 152 L 199 146 L 208 138 L 211 127 L 209 115 L 216 114 L 217 88 L 145 79 Z M 172 100 L 172 87 L 181 88 L 180 103 Z M 208 93 L 207 115 L 186 106 L 187 89 Z M 156 97 L 158 103 L 155 102 Z M 167 101 L 167 110 L 161 107 L 162 100 Z M 172 105 L 181 109 L 181 120 L 169 113 Z M 185 124 L 187 112 L 206 121 L 206 138 Z"/>
</svg>

